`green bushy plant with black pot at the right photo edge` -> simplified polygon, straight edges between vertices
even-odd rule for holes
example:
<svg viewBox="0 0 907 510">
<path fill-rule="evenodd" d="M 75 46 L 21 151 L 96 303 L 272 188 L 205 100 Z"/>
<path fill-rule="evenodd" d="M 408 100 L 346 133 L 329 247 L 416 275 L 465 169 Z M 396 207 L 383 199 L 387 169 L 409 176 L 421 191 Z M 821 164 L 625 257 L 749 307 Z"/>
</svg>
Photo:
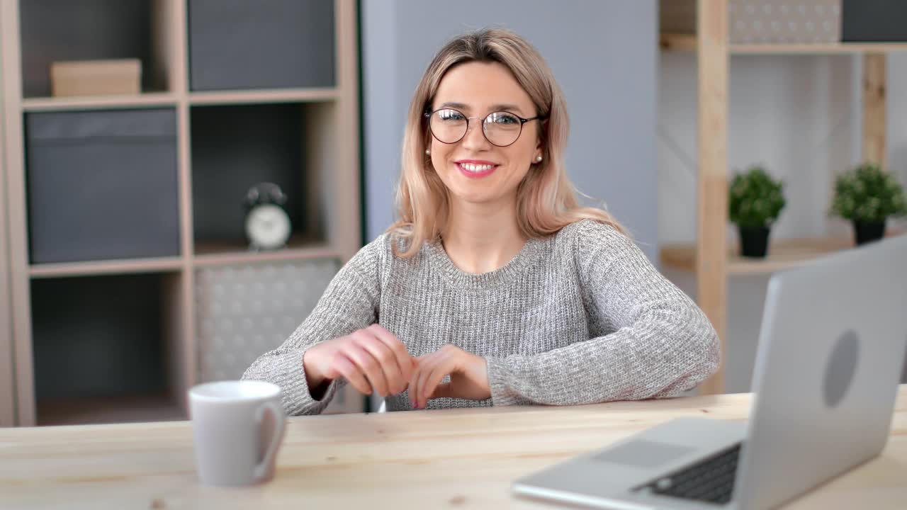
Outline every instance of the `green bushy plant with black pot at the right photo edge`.
<svg viewBox="0 0 907 510">
<path fill-rule="evenodd" d="M 853 223 L 856 243 L 880 240 L 889 216 L 907 214 L 901 184 L 873 163 L 863 163 L 834 181 L 831 213 Z"/>
</svg>

